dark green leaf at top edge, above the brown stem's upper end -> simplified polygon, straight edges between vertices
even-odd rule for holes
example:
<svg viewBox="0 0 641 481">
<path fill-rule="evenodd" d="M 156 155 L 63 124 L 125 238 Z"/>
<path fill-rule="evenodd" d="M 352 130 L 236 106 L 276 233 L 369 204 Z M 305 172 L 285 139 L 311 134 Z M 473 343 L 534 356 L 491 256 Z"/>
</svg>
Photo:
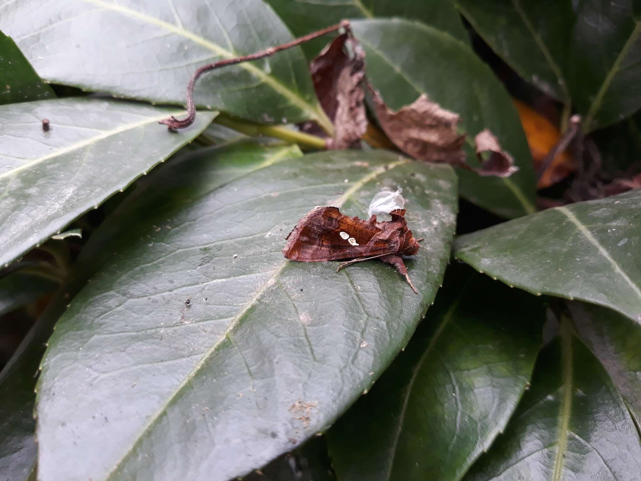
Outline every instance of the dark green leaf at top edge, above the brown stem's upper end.
<svg viewBox="0 0 641 481">
<path fill-rule="evenodd" d="M 271 4 L 296 37 L 337 24 L 342 19 L 404 17 L 446 31 L 463 42 L 468 42 L 469 38 L 450 0 L 267 0 L 267 3 Z M 328 43 L 328 37 L 320 37 L 306 42 L 302 47 L 311 60 Z"/>
</svg>

